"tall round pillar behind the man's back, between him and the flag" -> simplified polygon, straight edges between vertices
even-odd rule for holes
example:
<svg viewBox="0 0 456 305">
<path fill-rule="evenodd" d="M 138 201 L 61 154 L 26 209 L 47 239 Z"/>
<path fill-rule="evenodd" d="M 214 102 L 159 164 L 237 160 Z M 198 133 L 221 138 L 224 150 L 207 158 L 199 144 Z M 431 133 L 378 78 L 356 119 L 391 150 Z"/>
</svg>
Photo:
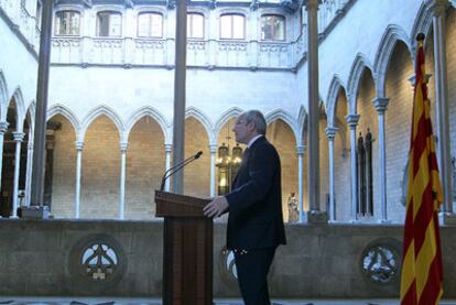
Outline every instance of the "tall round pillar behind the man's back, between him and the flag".
<svg viewBox="0 0 456 305">
<path fill-rule="evenodd" d="M 318 4 L 307 0 L 308 33 L 308 152 L 307 152 L 307 203 L 310 222 L 325 221 L 319 208 L 319 94 L 318 94 Z"/>
</svg>

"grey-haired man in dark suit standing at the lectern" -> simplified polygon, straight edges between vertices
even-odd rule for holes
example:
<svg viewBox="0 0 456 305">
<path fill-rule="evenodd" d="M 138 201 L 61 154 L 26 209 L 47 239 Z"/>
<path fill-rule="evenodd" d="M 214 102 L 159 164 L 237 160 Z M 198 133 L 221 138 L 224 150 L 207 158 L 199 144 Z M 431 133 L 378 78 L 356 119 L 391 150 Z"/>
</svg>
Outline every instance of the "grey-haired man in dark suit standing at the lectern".
<svg viewBox="0 0 456 305">
<path fill-rule="evenodd" d="M 264 138 L 258 110 L 239 116 L 232 131 L 247 144 L 234 190 L 204 208 L 207 217 L 228 211 L 227 248 L 235 252 L 238 283 L 247 305 L 269 305 L 268 272 L 279 244 L 285 244 L 280 159 Z"/>
</svg>

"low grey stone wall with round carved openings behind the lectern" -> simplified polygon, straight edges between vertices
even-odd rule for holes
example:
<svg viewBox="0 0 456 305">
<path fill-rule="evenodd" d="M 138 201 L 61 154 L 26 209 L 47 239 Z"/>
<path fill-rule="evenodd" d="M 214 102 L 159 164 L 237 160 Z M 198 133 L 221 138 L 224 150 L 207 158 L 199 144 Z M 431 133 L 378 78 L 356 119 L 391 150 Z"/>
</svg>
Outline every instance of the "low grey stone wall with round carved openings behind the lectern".
<svg viewBox="0 0 456 305">
<path fill-rule="evenodd" d="M 160 297 L 162 225 L 162 221 L 2 219 L 0 294 Z M 232 261 L 224 252 L 225 230 L 226 225 L 215 224 L 214 297 L 239 297 Z M 456 227 L 443 227 L 441 232 L 444 297 L 455 298 Z M 381 261 L 377 257 L 379 251 L 390 249 L 398 255 L 390 263 L 399 268 L 402 233 L 400 226 L 289 225 L 289 244 L 279 248 L 271 269 L 271 295 L 397 298 L 399 269 L 390 281 L 376 283 L 369 280 L 362 265 L 368 265 L 365 260 L 368 253 Z M 94 252 L 90 248 L 98 242 L 107 246 L 106 254 L 116 259 L 113 272 L 106 280 L 94 281 L 82 263 L 90 261 L 89 254 Z M 374 275 L 384 274 L 371 271 Z"/>
</svg>

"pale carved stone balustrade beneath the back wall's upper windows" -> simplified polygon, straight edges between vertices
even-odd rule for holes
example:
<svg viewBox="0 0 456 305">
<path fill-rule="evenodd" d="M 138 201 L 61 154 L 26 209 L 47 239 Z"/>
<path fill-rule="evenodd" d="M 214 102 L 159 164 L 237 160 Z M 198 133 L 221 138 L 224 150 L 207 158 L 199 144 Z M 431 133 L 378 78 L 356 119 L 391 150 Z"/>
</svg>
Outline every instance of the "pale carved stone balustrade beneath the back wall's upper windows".
<svg viewBox="0 0 456 305">
<path fill-rule="evenodd" d="M 294 68 L 306 52 L 296 42 L 188 40 L 187 65 L 198 67 Z M 53 37 L 53 64 L 172 66 L 174 39 Z"/>
</svg>

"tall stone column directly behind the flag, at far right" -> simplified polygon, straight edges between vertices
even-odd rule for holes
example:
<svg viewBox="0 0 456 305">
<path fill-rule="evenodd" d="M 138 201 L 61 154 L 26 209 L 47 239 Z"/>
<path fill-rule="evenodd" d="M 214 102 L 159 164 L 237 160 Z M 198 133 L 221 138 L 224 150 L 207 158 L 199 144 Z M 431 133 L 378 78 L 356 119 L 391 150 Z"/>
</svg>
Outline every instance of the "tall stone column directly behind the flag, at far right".
<svg viewBox="0 0 456 305">
<path fill-rule="evenodd" d="M 439 161 L 441 179 L 444 192 L 443 209 L 453 214 L 452 196 L 452 155 L 449 142 L 449 109 L 448 80 L 446 63 L 445 14 L 447 0 L 427 0 L 433 12 L 434 30 L 434 67 L 435 67 L 435 98 L 437 123 L 437 155 Z"/>
</svg>

